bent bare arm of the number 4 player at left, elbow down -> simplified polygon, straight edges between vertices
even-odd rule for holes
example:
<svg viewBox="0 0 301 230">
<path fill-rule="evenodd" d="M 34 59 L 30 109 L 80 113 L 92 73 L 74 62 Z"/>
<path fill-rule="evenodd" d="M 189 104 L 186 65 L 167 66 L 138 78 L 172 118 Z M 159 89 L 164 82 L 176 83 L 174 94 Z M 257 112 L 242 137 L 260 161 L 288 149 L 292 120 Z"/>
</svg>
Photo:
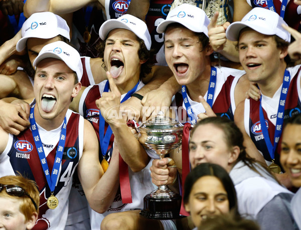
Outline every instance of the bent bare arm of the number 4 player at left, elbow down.
<svg viewBox="0 0 301 230">
<path fill-rule="evenodd" d="M 84 149 L 78 164 L 78 176 L 91 208 L 105 212 L 113 202 L 119 186 L 118 150 L 114 152 L 106 171 L 98 158 L 98 139 L 92 125 L 84 120 Z"/>
</svg>

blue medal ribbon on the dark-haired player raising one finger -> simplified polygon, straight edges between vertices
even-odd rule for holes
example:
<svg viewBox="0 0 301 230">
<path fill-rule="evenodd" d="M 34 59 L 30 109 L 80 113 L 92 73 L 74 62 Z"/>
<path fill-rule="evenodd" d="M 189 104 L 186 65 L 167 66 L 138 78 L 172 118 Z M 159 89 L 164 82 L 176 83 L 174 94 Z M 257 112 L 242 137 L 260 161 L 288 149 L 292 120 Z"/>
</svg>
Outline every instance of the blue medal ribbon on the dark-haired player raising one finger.
<svg viewBox="0 0 301 230">
<path fill-rule="evenodd" d="M 134 88 L 132 88 L 130 91 L 128 91 L 126 93 L 124 98 L 121 100 L 121 103 L 126 101 L 128 98 L 130 98 L 130 96 L 136 91 L 139 83 L 140 83 L 140 81 L 137 82 L 137 84 L 134 86 Z M 109 81 L 107 81 L 105 83 L 103 92 L 108 92 L 108 91 L 109 91 Z M 113 133 L 110 125 L 108 125 L 107 130 L 104 135 L 104 124 L 105 124 L 104 118 L 102 117 L 101 113 L 99 113 L 99 130 L 98 130 L 99 131 L 99 142 L 100 142 L 101 153 L 103 156 L 105 156 L 105 154 L 106 154 L 106 151 L 108 149 L 109 142 L 111 139 L 111 135 Z"/>
</svg>

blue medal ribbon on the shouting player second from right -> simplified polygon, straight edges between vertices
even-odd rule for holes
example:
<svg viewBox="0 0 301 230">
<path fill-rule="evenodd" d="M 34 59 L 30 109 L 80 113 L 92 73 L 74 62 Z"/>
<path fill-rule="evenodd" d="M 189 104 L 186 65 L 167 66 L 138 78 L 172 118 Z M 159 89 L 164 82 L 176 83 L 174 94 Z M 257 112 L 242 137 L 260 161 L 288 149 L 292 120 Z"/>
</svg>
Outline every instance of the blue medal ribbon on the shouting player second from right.
<svg viewBox="0 0 301 230">
<path fill-rule="evenodd" d="M 211 108 L 213 105 L 215 85 L 216 85 L 216 68 L 211 67 L 211 76 L 210 76 L 210 82 L 208 86 L 208 93 L 207 93 L 207 100 L 206 100 Z M 186 86 L 182 86 L 182 97 L 183 97 L 184 105 L 187 109 L 187 114 L 191 120 L 191 124 L 195 125 L 197 123 L 197 116 L 193 113 L 191 105 L 189 103 Z"/>
</svg>

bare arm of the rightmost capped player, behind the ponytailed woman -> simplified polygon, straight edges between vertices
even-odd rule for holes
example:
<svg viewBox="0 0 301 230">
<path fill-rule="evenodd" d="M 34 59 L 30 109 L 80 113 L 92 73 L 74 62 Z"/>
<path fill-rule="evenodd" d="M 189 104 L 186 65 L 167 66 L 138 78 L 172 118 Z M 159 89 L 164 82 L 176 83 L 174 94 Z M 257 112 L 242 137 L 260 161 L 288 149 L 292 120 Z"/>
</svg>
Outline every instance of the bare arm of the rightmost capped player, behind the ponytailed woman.
<svg viewBox="0 0 301 230">
<path fill-rule="evenodd" d="M 255 160 L 262 162 L 263 164 L 266 164 L 262 154 L 260 154 L 260 152 L 256 148 L 255 144 L 253 143 L 252 139 L 245 131 L 245 128 L 244 128 L 244 101 L 240 102 L 237 105 L 235 114 L 234 114 L 234 121 L 235 121 L 237 127 L 240 129 L 240 131 L 243 134 L 243 138 L 244 138 L 243 143 L 244 143 L 244 146 L 246 147 L 246 151 L 247 151 L 248 155 L 250 157 L 254 158 Z"/>
</svg>

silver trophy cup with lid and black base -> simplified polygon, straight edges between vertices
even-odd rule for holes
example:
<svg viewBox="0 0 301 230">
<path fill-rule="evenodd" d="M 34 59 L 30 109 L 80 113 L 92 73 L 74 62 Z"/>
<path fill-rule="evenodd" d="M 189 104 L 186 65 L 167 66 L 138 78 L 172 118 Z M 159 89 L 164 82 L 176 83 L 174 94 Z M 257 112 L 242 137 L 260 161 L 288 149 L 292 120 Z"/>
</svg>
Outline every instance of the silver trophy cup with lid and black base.
<svg viewBox="0 0 301 230">
<path fill-rule="evenodd" d="M 164 158 L 169 151 L 179 147 L 182 141 L 183 125 L 160 111 L 157 117 L 146 121 L 138 128 L 139 141 L 146 147 L 155 150 Z M 167 185 L 160 185 L 157 190 L 147 194 L 144 208 L 140 215 L 151 219 L 179 218 L 182 197 L 171 191 Z"/>
</svg>

